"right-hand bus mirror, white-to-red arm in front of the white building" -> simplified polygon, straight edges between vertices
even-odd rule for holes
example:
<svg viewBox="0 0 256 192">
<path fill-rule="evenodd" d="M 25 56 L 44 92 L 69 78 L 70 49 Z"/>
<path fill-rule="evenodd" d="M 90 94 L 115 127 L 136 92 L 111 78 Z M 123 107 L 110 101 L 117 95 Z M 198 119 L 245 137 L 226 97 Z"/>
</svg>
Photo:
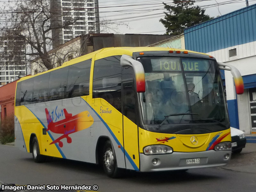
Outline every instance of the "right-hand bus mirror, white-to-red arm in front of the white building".
<svg viewBox="0 0 256 192">
<path fill-rule="evenodd" d="M 221 63 L 221 62 L 217 62 L 219 65 L 219 68 L 222 70 L 227 70 L 230 71 L 232 76 L 234 77 L 234 81 L 235 81 L 235 86 L 236 86 L 236 94 L 240 95 L 244 93 L 244 82 L 243 82 L 243 78 L 240 74 L 240 72 L 238 71 L 238 69 L 232 65 L 226 64 L 226 63 Z M 228 68 L 226 68 L 228 67 Z"/>
</svg>

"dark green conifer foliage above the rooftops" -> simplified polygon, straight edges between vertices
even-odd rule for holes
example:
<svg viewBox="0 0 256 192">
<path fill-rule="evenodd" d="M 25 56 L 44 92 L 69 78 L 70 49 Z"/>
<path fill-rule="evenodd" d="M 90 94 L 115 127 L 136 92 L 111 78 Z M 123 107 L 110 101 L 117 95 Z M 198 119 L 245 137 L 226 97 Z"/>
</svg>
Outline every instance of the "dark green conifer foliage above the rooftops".
<svg viewBox="0 0 256 192">
<path fill-rule="evenodd" d="M 160 22 L 166 28 L 167 35 L 180 35 L 184 28 L 213 19 L 213 17 L 205 15 L 205 10 L 198 5 L 193 6 L 194 3 L 195 1 L 191 0 L 173 0 L 174 5 L 163 3 L 168 12 L 164 12 L 164 19 L 160 19 Z"/>
</svg>

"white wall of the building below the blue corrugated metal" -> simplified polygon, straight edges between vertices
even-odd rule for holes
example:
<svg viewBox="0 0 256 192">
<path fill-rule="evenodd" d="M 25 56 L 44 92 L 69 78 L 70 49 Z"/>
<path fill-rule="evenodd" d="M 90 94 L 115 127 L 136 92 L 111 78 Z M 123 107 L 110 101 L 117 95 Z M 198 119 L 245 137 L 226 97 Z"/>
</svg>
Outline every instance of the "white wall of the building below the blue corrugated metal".
<svg viewBox="0 0 256 192">
<path fill-rule="evenodd" d="M 231 49 L 236 49 L 236 56 L 229 57 L 229 50 Z M 242 76 L 256 74 L 256 42 L 236 45 L 207 54 L 212 55 L 219 62 L 235 66 Z M 244 90 L 244 94 L 236 95 L 234 80 L 230 71 L 225 71 L 225 83 L 227 100 L 237 99 L 239 129 L 249 134 L 252 125 L 248 89 Z"/>
</svg>

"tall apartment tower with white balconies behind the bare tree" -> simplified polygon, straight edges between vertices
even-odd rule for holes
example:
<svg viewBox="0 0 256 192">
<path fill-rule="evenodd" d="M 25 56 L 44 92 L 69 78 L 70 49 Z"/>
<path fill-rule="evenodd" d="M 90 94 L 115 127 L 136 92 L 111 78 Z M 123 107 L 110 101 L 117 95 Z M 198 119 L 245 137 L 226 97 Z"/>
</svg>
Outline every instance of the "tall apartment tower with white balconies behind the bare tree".
<svg viewBox="0 0 256 192">
<path fill-rule="evenodd" d="M 98 0 L 50 1 L 52 26 L 67 25 L 52 30 L 53 48 L 82 34 L 100 33 Z"/>
</svg>

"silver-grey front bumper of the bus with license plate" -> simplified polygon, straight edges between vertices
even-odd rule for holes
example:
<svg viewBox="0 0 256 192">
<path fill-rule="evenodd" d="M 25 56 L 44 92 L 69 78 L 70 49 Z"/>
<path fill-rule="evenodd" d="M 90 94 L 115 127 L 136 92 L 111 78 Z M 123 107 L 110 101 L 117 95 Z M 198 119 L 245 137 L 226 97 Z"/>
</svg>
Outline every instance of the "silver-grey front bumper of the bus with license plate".
<svg viewBox="0 0 256 192">
<path fill-rule="evenodd" d="M 227 154 L 228 158 L 226 159 L 225 156 L 227 157 Z M 230 157 L 231 150 L 209 150 L 189 153 L 173 152 L 172 154 L 164 155 L 140 154 L 140 171 L 153 172 L 224 166 L 229 162 Z"/>
</svg>

